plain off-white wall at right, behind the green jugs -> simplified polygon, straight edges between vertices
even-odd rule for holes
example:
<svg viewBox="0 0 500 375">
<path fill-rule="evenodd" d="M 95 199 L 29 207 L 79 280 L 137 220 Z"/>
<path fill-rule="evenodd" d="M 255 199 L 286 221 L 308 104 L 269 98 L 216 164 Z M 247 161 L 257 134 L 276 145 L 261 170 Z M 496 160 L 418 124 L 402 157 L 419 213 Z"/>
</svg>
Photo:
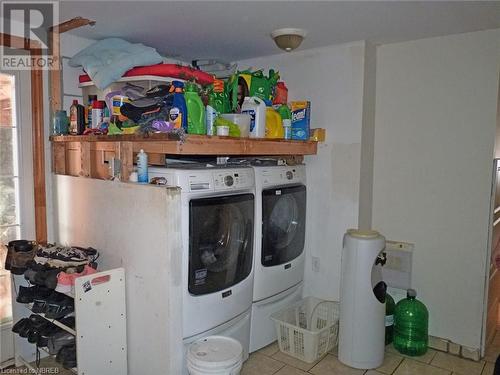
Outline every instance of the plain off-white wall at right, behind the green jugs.
<svg viewBox="0 0 500 375">
<path fill-rule="evenodd" d="M 479 348 L 500 30 L 378 48 L 373 226 L 415 243 L 430 334 Z"/>
</svg>

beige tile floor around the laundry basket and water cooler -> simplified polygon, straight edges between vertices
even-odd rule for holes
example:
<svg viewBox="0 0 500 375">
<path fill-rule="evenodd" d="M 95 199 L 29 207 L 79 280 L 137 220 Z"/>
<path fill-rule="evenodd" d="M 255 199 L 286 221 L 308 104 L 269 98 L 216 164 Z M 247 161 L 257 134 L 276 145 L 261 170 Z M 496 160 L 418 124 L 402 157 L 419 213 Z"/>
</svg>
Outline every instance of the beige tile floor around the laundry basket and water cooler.
<svg viewBox="0 0 500 375">
<path fill-rule="evenodd" d="M 382 366 L 376 370 L 357 370 L 337 359 L 336 349 L 320 361 L 305 363 L 279 351 L 275 342 L 250 355 L 241 375 L 493 375 L 494 362 L 500 354 L 500 331 L 486 356 L 479 362 L 429 349 L 421 357 L 407 357 L 392 345 L 386 349 Z"/>
</svg>

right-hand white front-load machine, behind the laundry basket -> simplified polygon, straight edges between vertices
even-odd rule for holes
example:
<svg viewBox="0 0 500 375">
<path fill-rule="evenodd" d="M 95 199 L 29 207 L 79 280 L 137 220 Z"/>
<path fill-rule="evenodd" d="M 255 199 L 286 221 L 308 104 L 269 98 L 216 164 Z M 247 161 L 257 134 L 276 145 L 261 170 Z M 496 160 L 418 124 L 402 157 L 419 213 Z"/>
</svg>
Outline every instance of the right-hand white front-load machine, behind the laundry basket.
<svg viewBox="0 0 500 375">
<path fill-rule="evenodd" d="M 250 352 L 276 340 L 271 314 L 302 298 L 306 228 L 305 166 L 253 168 L 255 271 Z"/>
</svg>

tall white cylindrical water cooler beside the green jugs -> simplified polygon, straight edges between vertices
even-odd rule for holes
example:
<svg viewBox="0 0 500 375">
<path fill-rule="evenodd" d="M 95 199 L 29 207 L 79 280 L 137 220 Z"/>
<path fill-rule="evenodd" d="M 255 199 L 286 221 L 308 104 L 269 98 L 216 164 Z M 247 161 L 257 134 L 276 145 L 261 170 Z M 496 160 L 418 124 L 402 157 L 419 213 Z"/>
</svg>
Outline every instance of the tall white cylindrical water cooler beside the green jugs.
<svg viewBox="0 0 500 375">
<path fill-rule="evenodd" d="M 339 360 L 359 369 L 379 367 L 385 349 L 383 302 L 374 293 L 382 281 L 385 238 L 376 231 L 349 229 L 344 235 L 340 284 Z M 379 297 L 380 298 L 380 297 Z"/>
</svg>

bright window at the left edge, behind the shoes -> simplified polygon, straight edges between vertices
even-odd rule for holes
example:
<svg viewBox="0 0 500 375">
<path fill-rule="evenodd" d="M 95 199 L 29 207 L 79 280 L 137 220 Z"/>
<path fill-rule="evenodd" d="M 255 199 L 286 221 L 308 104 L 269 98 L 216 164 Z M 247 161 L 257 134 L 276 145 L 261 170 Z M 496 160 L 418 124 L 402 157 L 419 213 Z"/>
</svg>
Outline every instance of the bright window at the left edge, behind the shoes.
<svg viewBox="0 0 500 375">
<path fill-rule="evenodd" d="M 19 166 L 14 75 L 0 73 L 0 243 L 19 238 Z M 0 248 L 0 324 L 12 319 L 7 249 Z"/>
</svg>

